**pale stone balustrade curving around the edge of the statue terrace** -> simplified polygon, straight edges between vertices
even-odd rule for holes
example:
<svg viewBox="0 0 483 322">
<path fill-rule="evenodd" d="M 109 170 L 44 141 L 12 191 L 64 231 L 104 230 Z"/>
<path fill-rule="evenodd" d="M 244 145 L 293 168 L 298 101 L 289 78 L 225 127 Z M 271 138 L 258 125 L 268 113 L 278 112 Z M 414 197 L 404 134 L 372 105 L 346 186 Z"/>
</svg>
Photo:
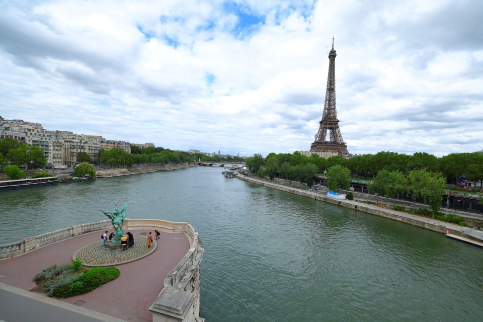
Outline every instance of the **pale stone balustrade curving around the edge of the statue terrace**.
<svg viewBox="0 0 483 322">
<path fill-rule="evenodd" d="M 112 227 L 111 220 L 102 220 L 58 229 L 18 243 L 0 245 L 0 260 L 23 255 L 27 252 L 54 244 L 57 241 Z M 190 241 L 190 249 L 164 280 L 164 288 L 149 308 L 153 322 L 179 321 L 202 322 L 200 313 L 200 264 L 203 258 L 203 243 L 199 233 L 189 222 L 172 222 L 157 219 L 125 219 L 125 229 L 152 229 L 184 232 Z"/>
</svg>

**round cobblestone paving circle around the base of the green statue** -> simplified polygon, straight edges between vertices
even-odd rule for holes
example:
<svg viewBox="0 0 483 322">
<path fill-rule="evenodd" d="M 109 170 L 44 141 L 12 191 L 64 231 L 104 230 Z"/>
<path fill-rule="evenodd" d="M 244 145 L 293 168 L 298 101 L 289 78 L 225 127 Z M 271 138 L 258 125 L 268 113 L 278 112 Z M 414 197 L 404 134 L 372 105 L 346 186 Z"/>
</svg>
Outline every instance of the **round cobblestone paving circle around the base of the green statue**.
<svg viewBox="0 0 483 322">
<path fill-rule="evenodd" d="M 157 248 L 156 241 L 152 242 L 150 248 L 147 247 L 147 238 L 135 236 L 134 246 L 126 251 L 122 249 L 110 250 L 102 246 L 102 240 L 79 249 L 74 253 L 72 259 L 79 258 L 84 266 L 113 266 L 129 263 L 140 258 L 146 257 Z"/>
</svg>

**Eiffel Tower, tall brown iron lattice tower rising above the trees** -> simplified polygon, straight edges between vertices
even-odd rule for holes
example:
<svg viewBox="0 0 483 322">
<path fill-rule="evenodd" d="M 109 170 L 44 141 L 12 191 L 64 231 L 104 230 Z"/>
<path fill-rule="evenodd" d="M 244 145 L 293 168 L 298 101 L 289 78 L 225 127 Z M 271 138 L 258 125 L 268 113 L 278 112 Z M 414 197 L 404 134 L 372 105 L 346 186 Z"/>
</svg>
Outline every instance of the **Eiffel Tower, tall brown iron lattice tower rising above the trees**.
<svg viewBox="0 0 483 322">
<path fill-rule="evenodd" d="M 334 50 L 334 38 L 332 38 L 332 50 L 329 53 L 329 75 L 327 76 L 326 102 L 324 114 L 320 120 L 320 127 L 315 135 L 315 141 L 310 145 L 311 152 L 337 152 L 344 156 L 349 154 L 347 145 L 342 139 L 337 119 L 336 110 L 336 51 Z M 326 140 L 327 131 L 330 140 Z"/>
</svg>

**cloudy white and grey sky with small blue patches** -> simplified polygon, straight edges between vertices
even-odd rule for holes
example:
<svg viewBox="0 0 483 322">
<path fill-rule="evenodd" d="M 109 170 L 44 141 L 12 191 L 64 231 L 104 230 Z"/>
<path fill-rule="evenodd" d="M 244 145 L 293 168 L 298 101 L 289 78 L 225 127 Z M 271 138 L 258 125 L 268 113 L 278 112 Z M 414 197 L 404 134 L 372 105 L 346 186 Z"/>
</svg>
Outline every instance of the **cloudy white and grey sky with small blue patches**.
<svg viewBox="0 0 483 322">
<path fill-rule="evenodd" d="M 329 51 L 352 154 L 483 150 L 483 2 L 2 1 L 0 116 L 250 156 L 309 150 Z"/>
</svg>

